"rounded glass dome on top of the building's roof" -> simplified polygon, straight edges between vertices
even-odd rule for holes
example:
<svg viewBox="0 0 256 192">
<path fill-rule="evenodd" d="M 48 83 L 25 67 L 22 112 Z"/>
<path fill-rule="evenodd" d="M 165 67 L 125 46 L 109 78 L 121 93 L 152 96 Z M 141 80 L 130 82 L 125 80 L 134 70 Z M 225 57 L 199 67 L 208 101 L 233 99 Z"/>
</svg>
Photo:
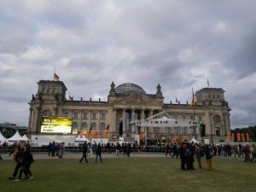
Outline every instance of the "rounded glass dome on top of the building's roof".
<svg viewBox="0 0 256 192">
<path fill-rule="evenodd" d="M 131 93 L 146 94 L 145 90 L 143 90 L 143 88 L 141 88 L 139 85 L 131 83 L 120 84 L 114 90 L 117 94 L 121 95 L 129 95 Z"/>
</svg>

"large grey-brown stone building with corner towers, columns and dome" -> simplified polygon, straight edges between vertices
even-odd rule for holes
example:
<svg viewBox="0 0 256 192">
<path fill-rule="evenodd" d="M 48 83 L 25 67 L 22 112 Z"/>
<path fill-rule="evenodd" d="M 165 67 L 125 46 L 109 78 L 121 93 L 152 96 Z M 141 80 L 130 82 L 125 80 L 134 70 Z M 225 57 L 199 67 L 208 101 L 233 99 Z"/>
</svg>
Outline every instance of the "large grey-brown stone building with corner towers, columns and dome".
<svg viewBox="0 0 256 192">
<path fill-rule="evenodd" d="M 203 88 L 196 91 L 196 104 L 164 103 L 160 84 L 155 94 L 147 94 L 137 84 L 110 85 L 108 101 L 74 101 L 66 98 L 67 88 L 61 81 L 40 80 L 38 93 L 32 96 L 30 105 L 29 131 L 40 134 L 42 116 L 67 116 L 73 119 L 72 134 L 80 131 L 102 131 L 109 125 L 109 136 L 134 139 L 135 135 L 145 135 L 148 139 L 166 138 L 184 140 L 195 137 L 197 140 L 209 138 L 212 143 L 226 141 L 230 136 L 230 108 L 224 100 L 224 90 Z M 198 122 L 198 126 L 137 127 L 131 125 L 136 119 L 147 119 L 165 111 L 172 119 Z"/>
</svg>

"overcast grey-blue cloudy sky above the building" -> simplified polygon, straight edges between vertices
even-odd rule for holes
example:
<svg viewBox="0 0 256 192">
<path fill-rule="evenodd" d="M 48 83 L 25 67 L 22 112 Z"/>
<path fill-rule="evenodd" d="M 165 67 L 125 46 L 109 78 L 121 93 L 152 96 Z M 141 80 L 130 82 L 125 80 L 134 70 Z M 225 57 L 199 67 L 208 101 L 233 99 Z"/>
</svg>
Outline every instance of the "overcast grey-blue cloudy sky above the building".
<svg viewBox="0 0 256 192">
<path fill-rule="evenodd" d="M 0 1 L 0 123 L 27 125 L 55 72 L 74 99 L 107 101 L 131 82 L 165 102 L 225 90 L 232 127 L 256 125 L 256 1 Z"/>
</svg>

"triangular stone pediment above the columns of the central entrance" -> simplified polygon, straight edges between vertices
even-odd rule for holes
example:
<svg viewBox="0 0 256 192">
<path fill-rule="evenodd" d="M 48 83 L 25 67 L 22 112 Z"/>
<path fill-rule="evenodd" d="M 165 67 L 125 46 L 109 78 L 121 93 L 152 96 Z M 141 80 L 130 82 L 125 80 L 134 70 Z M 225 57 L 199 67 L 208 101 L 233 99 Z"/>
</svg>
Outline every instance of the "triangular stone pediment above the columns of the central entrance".
<svg viewBox="0 0 256 192">
<path fill-rule="evenodd" d="M 134 93 L 130 96 L 124 96 L 113 102 L 113 105 L 129 105 L 129 106 L 162 106 L 162 103 L 150 98 L 149 96 Z"/>
</svg>

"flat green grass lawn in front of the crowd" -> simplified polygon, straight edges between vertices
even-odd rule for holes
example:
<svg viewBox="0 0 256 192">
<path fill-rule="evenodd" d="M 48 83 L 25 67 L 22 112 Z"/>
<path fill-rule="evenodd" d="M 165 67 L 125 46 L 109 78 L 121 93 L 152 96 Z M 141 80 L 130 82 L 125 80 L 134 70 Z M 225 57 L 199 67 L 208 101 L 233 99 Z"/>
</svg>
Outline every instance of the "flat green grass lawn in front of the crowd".
<svg viewBox="0 0 256 192">
<path fill-rule="evenodd" d="M 164 192 L 164 191 L 256 191 L 256 163 L 236 159 L 213 159 L 212 172 L 180 171 L 180 161 L 172 158 L 108 158 L 103 163 L 90 159 L 36 160 L 34 180 L 9 180 L 13 160 L 0 161 L 0 191 L 22 192 Z M 203 167 L 206 167 L 203 159 Z M 197 164 L 195 163 L 195 168 Z"/>
</svg>

